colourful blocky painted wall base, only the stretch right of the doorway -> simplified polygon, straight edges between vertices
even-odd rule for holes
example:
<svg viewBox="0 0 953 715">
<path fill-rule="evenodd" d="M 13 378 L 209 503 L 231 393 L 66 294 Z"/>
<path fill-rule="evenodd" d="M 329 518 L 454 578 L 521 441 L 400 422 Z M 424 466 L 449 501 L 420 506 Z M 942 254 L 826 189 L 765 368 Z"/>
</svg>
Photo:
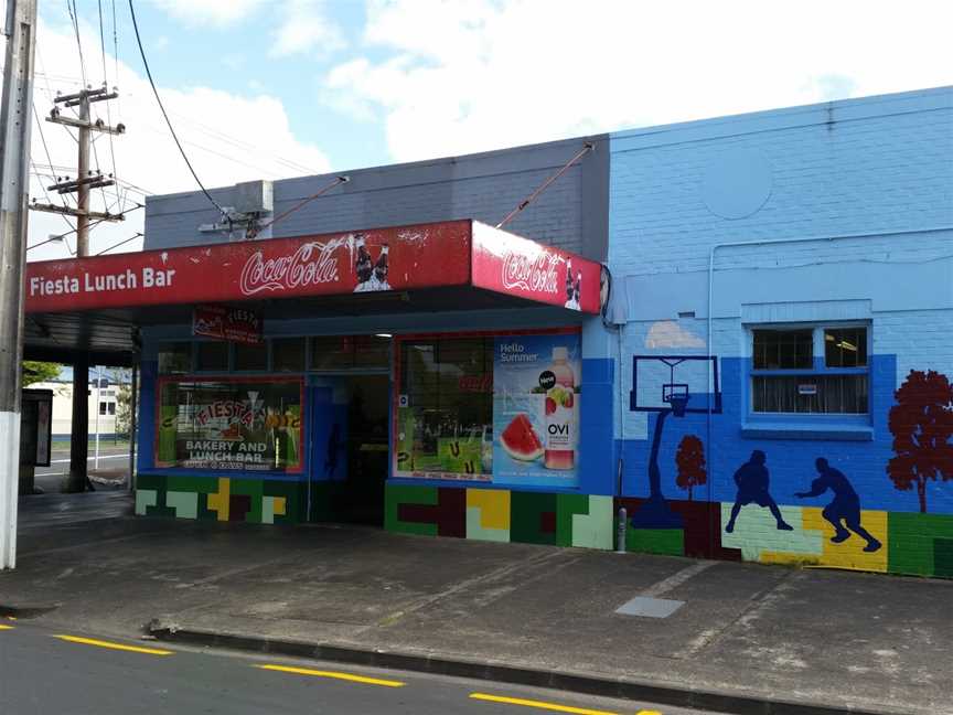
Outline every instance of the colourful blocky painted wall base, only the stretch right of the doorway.
<svg viewBox="0 0 953 715">
<path fill-rule="evenodd" d="M 613 501 L 588 494 L 388 485 L 386 527 L 409 534 L 609 549 L 617 510 L 624 506 L 631 517 L 642 503 L 642 499 Z M 834 529 L 815 506 L 781 506 L 792 531 L 780 531 L 767 509 L 748 506 L 734 533 L 726 533 L 731 505 L 670 501 L 683 526 L 634 529 L 630 522 L 625 547 L 696 558 L 953 578 L 953 516 L 865 511 L 861 523 L 881 543 L 871 553 L 864 551 L 867 543 L 856 534 L 833 543 Z"/>
</svg>

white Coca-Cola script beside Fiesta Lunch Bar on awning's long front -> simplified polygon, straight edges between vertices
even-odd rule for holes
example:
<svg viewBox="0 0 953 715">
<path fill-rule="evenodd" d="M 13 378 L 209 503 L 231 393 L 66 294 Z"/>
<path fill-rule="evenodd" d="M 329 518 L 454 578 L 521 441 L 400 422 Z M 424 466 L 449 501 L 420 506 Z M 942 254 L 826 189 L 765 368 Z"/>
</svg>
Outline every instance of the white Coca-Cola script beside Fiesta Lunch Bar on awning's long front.
<svg viewBox="0 0 953 715">
<path fill-rule="evenodd" d="M 290 256 L 265 258 L 256 250 L 242 269 L 240 288 L 245 296 L 263 290 L 295 290 L 306 286 L 336 282 L 338 256 L 335 252 L 345 244 L 339 238 L 328 243 L 303 244 Z"/>
</svg>

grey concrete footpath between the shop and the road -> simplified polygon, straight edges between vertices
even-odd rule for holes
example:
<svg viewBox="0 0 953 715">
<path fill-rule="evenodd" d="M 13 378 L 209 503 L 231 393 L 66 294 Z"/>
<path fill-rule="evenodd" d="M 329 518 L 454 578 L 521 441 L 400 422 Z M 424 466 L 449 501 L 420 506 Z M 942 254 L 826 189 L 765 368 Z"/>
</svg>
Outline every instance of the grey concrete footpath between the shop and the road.
<svg viewBox="0 0 953 715">
<path fill-rule="evenodd" d="M 726 712 L 953 714 L 951 581 L 29 500 L 0 613 L 38 622 Z M 636 597 L 683 605 L 617 612 Z"/>
</svg>

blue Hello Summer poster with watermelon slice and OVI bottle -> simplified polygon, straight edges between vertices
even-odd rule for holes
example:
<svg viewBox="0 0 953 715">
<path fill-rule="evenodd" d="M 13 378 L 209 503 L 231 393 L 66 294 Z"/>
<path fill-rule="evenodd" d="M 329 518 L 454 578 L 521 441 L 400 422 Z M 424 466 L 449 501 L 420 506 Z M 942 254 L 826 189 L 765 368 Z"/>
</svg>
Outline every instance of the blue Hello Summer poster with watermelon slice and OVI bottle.
<svg viewBox="0 0 953 715">
<path fill-rule="evenodd" d="M 493 482 L 576 487 L 578 333 L 506 335 L 493 349 Z"/>
</svg>

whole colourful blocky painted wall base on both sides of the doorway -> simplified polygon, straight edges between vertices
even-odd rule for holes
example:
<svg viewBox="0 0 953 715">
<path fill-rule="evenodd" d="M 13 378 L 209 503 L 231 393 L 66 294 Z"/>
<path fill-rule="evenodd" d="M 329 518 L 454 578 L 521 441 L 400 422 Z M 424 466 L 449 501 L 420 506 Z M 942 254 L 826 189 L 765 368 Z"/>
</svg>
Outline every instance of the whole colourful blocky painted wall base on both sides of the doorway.
<svg viewBox="0 0 953 715">
<path fill-rule="evenodd" d="M 333 519 L 330 489 L 312 484 L 310 521 Z M 386 489 L 385 527 L 392 532 L 482 541 L 611 549 L 615 513 L 631 517 L 644 500 L 496 489 L 405 487 Z M 140 474 L 136 513 L 147 516 L 293 524 L 307 514 L 307 484 L 215 477 Z M 953 578 L 953 516 L 861 512 L 864 527 L 881 543 L 866 552 L 852 534 L 833 543 L 834 530 L 815 506 L 781 506 L 791 531 L 778 529 L 767 509 L 742 509 L 732 533 L 731 503 L 671 501 L 681 529 L 627 525 L 625 546 L 696 558 L 827 566 L 865 572 Z"/>
</svg>

